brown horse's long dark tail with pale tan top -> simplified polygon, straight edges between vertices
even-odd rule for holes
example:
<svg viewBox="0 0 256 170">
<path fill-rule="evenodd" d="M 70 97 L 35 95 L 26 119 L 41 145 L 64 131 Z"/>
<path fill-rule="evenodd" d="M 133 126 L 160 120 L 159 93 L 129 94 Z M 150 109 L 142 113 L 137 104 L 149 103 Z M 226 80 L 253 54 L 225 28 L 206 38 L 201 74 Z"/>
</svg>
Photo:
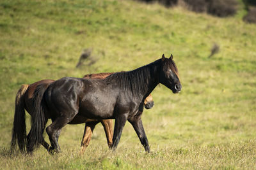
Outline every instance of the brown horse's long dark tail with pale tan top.
<svg viewBox="0 0 256 170">
<path fill-rule="evenodd" d="M 15 99 L 15 113 L 12 128 L 11 150 L 15 150 L 18 143 L 21 152 L 25 152 L 27 144 L 26 122 L 25 122 L 25 101 L 24 94 L 29 85 L 22 85 L 17 92 Z"/>
</svg>

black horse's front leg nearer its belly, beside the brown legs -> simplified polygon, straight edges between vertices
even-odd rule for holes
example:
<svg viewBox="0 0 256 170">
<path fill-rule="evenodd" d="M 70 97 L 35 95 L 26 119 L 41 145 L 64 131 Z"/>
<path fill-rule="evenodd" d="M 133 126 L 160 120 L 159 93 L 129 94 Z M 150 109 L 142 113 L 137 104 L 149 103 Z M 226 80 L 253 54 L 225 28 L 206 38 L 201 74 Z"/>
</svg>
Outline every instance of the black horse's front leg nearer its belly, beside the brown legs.
<svg viewBox="0 0 256 170">
<path fill-rule="evenodd" d="M 125 125 L 125 122 L 127 121 L 127 114 L 124 115 L 118 115 L 115 118 L 115 128 L 114 128 L 114 135 L 113 135 L 113 145 L 111 146 L 112 150 L 115 151 L 116 147 L 120 141 L 121 134 Z"/>
</svg>

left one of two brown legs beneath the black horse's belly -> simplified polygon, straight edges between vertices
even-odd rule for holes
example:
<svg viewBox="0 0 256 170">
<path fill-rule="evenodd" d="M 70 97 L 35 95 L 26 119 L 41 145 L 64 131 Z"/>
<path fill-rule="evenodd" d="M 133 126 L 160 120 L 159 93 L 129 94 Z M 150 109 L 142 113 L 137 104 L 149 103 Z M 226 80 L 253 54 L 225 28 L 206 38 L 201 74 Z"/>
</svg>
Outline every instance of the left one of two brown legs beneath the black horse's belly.
<svg viewBox="0 0 256 170">
<path fill-rule="evenodd" d="M 81 150 L 80 153 L 83 154 L 84 150 L 89 145 L 91 139 L 92 139 L 92 132 L 95 128 L 95 125 L 97 125 L 99 122 L 88 122 L 85 124 L 84 127 L 84 136 L 81 142 Z"/>
</svg>

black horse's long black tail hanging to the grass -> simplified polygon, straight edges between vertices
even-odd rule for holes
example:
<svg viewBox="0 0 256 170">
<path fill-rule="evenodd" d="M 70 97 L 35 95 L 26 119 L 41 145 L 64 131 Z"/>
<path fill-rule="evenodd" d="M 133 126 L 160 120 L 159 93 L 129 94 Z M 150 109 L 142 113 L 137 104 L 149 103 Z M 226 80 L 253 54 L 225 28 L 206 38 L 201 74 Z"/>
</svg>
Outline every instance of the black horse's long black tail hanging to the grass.
<svg viewBox="0 0 256 170">
<path fill-rule="evenodd" d="M 33 114 L 32 114 L 32 125 L 28 136 L 28 152 L 39 146 L 40 143 L 44 142 L 44 129 L 45 129 L 45 113 L 44 113 L 44 92 L 49 84 L 42 84 L 36 87 L 33 95 Z"/>
</svg>

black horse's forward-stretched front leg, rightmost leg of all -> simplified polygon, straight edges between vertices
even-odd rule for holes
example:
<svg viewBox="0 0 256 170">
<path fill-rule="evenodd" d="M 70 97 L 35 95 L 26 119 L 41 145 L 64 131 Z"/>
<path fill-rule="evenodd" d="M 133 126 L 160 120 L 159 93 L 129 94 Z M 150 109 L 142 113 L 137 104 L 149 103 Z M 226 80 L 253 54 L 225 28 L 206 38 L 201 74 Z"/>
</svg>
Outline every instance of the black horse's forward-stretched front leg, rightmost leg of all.
<svg viewBox="0 0 256 170">
<path fill-rule="evenodd" d="M 136 133 L 137 133 L 137 135 L 140 139 L 141 144 L 145 148 L 145 151 L 149 153 L 150 148 L 149 148 L 149 145 L 148 145 L 148 138 L 145 134 L 143 124 L 142 124 L 142 121 L 141 121 L 141 117 L 132 117 L 132 118 L 129 118 L 128 121 L 132 124 L 134 130 L 136 131 Z"/>
</svg>

